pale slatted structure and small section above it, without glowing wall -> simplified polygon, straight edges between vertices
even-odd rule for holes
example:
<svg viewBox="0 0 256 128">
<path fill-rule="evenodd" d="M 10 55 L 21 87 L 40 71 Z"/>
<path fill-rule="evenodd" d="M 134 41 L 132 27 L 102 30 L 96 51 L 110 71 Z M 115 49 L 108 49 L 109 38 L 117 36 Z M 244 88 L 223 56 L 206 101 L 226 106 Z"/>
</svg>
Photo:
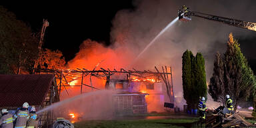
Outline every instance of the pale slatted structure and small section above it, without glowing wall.
<svg viewBox="0 0 256 128">
<path fill-rule="evenodd" d="M 119 90 L 113 95 L 116 115 L 133 115 L 147 113 L 147 93 L 131 91 L 131 81 L 125 75 L 113 75 L 109 79 L 109 88 Z"/>
</svg>

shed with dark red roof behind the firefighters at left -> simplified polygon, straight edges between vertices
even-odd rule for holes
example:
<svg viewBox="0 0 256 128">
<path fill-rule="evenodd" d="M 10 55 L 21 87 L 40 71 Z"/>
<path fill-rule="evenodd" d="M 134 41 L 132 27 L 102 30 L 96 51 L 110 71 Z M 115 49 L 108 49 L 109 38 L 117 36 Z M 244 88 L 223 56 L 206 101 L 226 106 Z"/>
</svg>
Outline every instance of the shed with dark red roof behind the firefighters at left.
<svg viewBox="0 0 256 128">
<path fill-rule="evenodd" d="M 37 111 L 59 101 L 55 76 L 0 75 L 0 109 L 16 110 L 23 103 L 34 105 Z M 38 114 L 39 127 L 47 127 L 53 121 L 53 111 Z"/>
</svg>

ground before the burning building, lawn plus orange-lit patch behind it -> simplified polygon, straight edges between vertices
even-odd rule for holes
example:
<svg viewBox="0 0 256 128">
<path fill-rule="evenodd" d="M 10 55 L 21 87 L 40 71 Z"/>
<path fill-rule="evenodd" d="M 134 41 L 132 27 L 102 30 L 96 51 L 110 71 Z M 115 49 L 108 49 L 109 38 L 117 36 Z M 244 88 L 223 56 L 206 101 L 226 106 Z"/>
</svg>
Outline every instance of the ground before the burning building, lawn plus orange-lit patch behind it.
<svg viewBox="0 0 256 128">
<path fill-rule="evenodd" d="M 75 128 L 186 128 L 186 127 L 201 127 L 197 123 L 198 117 L 186 115 L 184 113 L 153 113 L 147 116 L 133 117 L 118 117 L 113 120 L 97 120 L 97 121 L 80 121 L 74 123 Z M 250 123 L 255 123 L 253 119 L 247 120 Z"/>
</svg>

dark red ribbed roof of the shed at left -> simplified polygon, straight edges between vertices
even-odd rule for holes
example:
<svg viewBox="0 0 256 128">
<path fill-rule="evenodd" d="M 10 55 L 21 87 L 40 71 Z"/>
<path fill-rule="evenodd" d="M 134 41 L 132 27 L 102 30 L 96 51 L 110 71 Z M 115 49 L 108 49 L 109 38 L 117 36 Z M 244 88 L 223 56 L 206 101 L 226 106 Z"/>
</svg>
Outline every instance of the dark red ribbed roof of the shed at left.
<svg viewBox="0 0 256 128">
<path fill-rule="evenodd" d="M 0 75 L 0 107 L 42 105 L 54 75 Z"/>
</svg>

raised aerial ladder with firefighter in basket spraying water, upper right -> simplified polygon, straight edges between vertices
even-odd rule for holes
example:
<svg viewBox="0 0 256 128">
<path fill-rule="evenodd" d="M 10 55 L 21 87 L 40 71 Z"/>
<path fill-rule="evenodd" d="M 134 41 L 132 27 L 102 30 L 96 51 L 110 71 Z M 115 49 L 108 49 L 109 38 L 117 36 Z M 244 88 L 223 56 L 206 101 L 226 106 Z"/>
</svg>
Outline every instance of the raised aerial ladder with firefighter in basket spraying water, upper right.
<svg viewBox="0 0 256 128">
<path fill-rule="evenodd" d="M 251 31 L 256 31 L 256 23 L 241 21 L 238 19 L 231 19 L 226 17 L 219 17 L 216 15 L 209 15 L 206 13 L 199 13 L 196 11 L 190 11 L 189 8 L 186 7 L 185 5 L 183 5 L 182 8 L 179 9 L 178 15 L 179 15 L 179 20 L 181 21 L 191 21 L 191 16 L 195 16 L 203 19 L 208 19 L 210 21 L 225 23 L 226 25 L 231 25 L 231 26 L 240 27 L 243 29 L 248 29 Z"/>
</svg>

